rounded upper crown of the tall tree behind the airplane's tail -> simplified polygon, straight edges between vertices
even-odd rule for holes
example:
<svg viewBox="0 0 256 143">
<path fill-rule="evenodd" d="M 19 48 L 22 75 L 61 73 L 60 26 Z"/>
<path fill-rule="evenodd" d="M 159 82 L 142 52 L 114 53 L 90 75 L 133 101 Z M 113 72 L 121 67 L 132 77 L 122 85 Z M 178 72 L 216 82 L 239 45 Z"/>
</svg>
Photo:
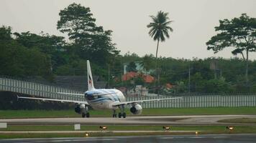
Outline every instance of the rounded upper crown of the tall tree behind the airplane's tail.
<svg viewBox="0 0 256 143">
<path fill-rule="evenodd" d="M 81 4 L 70 4 L 68 8 L 60 10 L 60 20 L 57 29 L 67 33 L 69 39 L 76 44 L 91 44 L 91 36 L 97 31 L 103 31 L 101 26 L 96 26 L 96 19 L 92 18 L 91 10 Z M 86 39 L 86 41 L 83 41 Z"/>
</svg>

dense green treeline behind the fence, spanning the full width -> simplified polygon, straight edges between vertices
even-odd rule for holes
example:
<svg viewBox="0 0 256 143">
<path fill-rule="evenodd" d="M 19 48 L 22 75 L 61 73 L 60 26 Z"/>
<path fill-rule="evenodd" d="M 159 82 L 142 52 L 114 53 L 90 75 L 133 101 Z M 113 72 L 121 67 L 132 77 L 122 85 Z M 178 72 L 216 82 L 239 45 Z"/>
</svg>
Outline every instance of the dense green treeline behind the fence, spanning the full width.
<svg viewBox="0 0 256 143">
<path fill-rule="evenodd" d="M 145 84 L 140 77 L 124 82 L 121 80 L 124 63 L 129 63 L 127 71 L 137 71 L 135 61 L 142 66 L 143 72 L 156 77 L 155 56 L 120 55 L 111 40 L 112 31 L 97 26 L 90 9 L 80 4 L 70 4 L 59 15 L 56 27 L 68 35 L 68 41 L 63 36 L 44 32 L 17 33 L 10 26 L 0 27 L 0 75 L 42 77 L 55 82 L 56 75 L 86 75 L 86 60 L 89 59 L 93 74 L 109 82 L 110 87 L 132 89 L 141 84 L 152 89 L 150 92 L 161 89 L 165 94 L 256 92 L 256 61 L 248 63 L 247 82 L 244 78 L 246 61 L 237 58 L 188 60 L 160 57 L 160 87 L 155 83 Z M 165 89 L 165 84 L 174 87 Z"/>
</svg>

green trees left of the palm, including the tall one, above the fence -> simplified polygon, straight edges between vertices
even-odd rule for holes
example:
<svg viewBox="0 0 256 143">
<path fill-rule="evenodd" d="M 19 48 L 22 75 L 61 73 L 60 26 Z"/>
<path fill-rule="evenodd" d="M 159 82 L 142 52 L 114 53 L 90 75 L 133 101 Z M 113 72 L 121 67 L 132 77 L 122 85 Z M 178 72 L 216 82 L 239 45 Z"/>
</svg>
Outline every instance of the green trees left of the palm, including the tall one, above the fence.
<svg viewBox="0 0 256 143">
<path fill-rule="evenodd" d="M 68 42 L 63 36 L 13 33 L 9 26 L 0 27 L 0 75 L 55 82 L 55 75 L 85 75 L 89 59 L 93 73 L 106 77 L 104 69 L 119 54 L 111 30 L 96 26 L 90 9 L 81 4 L 70 4 L 59 15 L 57 29 L 68 34 Z"/>
</svg>

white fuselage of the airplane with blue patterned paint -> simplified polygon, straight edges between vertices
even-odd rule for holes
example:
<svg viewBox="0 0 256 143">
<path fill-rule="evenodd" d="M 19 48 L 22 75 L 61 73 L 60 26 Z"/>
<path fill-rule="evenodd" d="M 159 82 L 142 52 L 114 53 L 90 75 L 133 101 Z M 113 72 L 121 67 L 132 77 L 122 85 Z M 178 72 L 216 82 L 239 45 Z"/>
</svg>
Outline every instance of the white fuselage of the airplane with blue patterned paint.
<svg viewBox="0 0 256 143">
<path fill-rule="evenodd" d="M 85 98 L 93 109 L 98 110 L 117 109 L 118 107 L 113 107 L 112 105 L 126 100 L 124 94 L 117 89 L 93 89 L 85 92 Z"/>
</svg>

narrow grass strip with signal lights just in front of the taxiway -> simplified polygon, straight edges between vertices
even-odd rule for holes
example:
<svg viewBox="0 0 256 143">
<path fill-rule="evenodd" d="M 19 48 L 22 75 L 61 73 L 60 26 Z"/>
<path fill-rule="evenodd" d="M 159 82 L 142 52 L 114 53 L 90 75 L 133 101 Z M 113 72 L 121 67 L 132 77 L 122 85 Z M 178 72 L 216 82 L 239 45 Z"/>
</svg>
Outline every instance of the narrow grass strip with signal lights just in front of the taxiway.
<svg viewBox="0 0 256 143">
<path fill-rule="evenodd" d="M 161 131 L 161 125 L 106 125 L 107 131 Z M 171 130 L 175 131 L 206 131 L 217 132 L 227 130 L 225 126 L 170 126 Z M 6 129 L 0 131 L 73 131 L 73 125 L 9 125 Z M 96 125 L 81 125 L 82 131 L 101 131 Z M 237 126 L 236 131 L 251 131 L 256 132 L 256 126 Z"/>
</svg>

